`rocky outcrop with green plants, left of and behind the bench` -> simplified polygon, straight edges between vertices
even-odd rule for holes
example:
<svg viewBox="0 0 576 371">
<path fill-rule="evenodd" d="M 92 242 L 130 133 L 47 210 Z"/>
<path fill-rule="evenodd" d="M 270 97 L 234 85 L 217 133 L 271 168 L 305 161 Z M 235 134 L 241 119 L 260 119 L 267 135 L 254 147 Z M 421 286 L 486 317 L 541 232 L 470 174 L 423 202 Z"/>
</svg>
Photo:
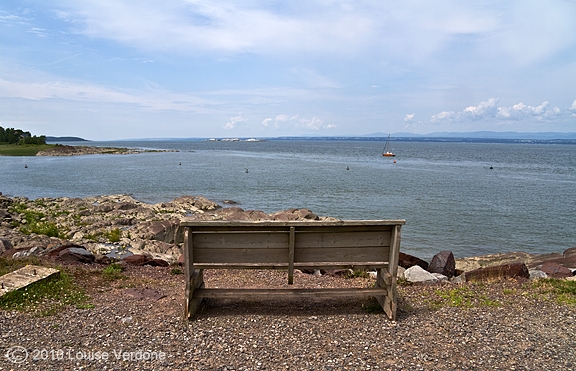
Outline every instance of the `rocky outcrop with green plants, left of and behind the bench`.
<svg viewBox="0 0 576 371">
<path fill-rule="evenodd" d="M 81 263 L 124 260 L 134 265 L 169 265 L 182 254 L 180 222 L 184 219 L 332 218 L 320 218 L 308 209 L 266 214 L 237 206 L 223 208 L 201 196 L 147 204 L 128 195 L 36 200 L 0 195 L 0 254 Z"/>
</svg>

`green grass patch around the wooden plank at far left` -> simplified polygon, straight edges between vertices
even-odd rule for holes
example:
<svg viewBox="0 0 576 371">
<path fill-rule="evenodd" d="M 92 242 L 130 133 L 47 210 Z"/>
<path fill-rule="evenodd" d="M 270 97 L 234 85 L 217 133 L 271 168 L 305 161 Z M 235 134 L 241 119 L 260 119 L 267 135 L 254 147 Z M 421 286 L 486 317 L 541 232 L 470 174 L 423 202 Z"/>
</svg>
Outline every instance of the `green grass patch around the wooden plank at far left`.
<svg viewBox="0 0 576 371">
<path fill-rule="evenodd" d="M 38 263 L 38 259 L 34 258 L 0 258 L 0 274 Z M 66 305 L 74 305 L 79 309 L 93 308 L 90 298 L 74 283 L 72 275 L 64 271 L 0 297 L 1 309 L 34 311 L 42 316 L 58 313 Z"/>
</svg>

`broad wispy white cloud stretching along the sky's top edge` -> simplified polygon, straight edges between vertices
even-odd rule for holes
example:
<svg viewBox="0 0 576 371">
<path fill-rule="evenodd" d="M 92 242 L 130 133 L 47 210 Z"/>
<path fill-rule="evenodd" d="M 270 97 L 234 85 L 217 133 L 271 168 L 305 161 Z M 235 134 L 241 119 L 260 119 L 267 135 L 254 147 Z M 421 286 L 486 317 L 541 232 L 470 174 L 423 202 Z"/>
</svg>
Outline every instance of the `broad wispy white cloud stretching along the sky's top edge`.
<svg viewBox="0 0 576 371">
<path fill-rule="evenodd" d="M 60 4 L 60 18 L 80 34 L 186 54 L 300 51 L 349 56 L 362 51 L 423 63 L 454 37 L 509 32 L 498 6 L 454 0 L 310 0 L 281 6 L 263 0 L 61 0 Z"/>
</svg>

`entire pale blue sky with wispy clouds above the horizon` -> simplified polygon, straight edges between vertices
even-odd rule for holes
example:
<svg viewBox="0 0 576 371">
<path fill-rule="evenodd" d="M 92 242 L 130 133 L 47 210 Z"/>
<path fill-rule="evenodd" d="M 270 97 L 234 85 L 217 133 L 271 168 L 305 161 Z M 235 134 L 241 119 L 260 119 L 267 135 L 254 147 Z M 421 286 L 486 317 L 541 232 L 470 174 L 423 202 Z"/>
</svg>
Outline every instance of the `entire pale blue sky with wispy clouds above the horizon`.
<svg viewBox="0 0 576 371">
<path fill-rule="evenodd" d="M 576 0 L 3 0 L 0 126 L 576 132 Z"/>
</svg>

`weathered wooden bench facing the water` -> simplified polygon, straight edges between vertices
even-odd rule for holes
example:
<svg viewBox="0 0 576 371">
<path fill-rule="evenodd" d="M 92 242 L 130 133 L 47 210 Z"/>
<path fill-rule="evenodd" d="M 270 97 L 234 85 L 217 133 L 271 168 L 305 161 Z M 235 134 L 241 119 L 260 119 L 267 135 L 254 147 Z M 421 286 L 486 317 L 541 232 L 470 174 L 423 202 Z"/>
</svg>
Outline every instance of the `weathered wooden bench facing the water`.
<svg viewBox="0 0 576 371">
<path fill-rule="evenodd" d="M 404 220 L 185 221 L 186 318 L 204 298 L 373 296 L 396 319 L 396 275 Z M 205 288 L 204 269 L 376 269 L 373 288 Z"/>
</svg>

